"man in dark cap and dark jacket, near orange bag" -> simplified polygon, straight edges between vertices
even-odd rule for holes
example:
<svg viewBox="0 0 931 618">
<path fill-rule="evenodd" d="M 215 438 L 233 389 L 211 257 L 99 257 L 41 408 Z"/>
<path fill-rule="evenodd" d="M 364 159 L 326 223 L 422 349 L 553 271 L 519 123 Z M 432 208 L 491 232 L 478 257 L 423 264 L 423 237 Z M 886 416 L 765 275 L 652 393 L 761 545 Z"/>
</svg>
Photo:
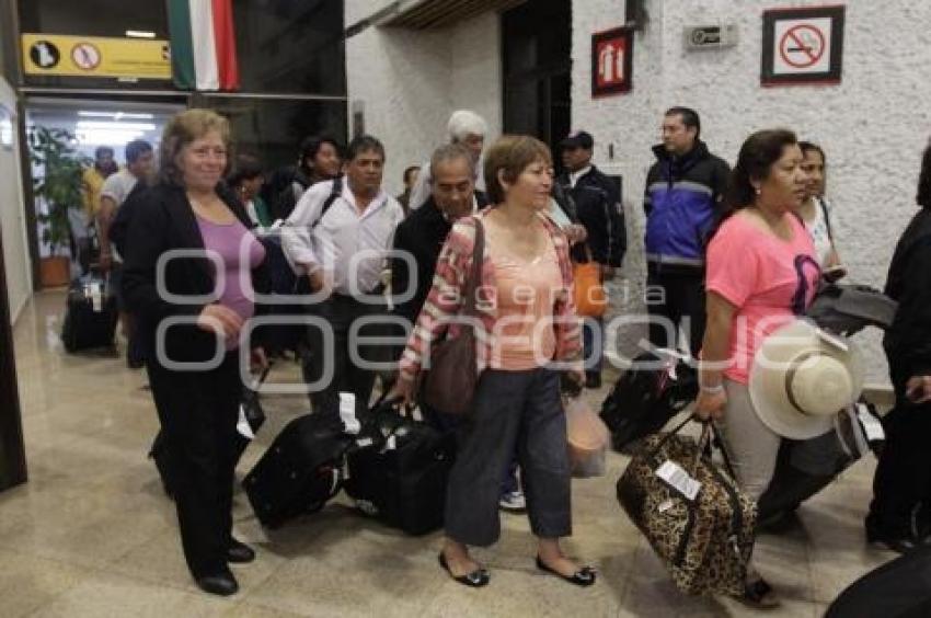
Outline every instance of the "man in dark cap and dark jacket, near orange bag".
<svg viewBox="0 0 931 618">
<path fill-rule="evenodd" d="M 591 163 L 595 139 L 590 134 L 578 130 L 560 144 L 563 167 L 556 182 L 572 199 L 575 217 L 585 226 L 587 240 L 573 248 L 573 260 L 588 262 L 590 258 L 601 266 L 601 279 L 614 276 L 627 249 L 627 229 L 619 185 Z M 597 319 L 600 330 L 601 319 Z M 583 329 L 586 362 L 594 355 L 596 360 L 585 371 L 588 388 L 601 386 L 601 346 L 595 348 L 595 336 L 590 328 Z"/>
</svg>

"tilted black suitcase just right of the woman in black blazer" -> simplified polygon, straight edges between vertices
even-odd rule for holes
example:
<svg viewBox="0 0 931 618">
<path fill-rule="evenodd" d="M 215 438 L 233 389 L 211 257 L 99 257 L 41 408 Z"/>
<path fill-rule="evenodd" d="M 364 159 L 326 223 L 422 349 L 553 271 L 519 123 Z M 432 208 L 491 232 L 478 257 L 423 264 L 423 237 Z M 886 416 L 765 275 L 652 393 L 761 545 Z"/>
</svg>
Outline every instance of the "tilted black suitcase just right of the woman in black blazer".
<svg viewBox="0 0 931 618">
<path fill-rule="evenodd" d="M 307 414 L 285 425 L 242 481 L 258 520 L 276 528 L 322 508 L 340 492 L 345 454 L 355 443 L 329 414 Z"/>
</svg>

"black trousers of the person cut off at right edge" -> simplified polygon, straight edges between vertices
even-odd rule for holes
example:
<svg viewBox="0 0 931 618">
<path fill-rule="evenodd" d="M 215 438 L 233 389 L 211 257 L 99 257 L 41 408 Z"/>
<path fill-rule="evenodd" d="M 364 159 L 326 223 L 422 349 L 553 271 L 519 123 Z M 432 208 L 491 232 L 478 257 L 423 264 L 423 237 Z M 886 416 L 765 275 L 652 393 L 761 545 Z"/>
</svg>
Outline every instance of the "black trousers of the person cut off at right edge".
<svg viewBox="0 0 931 618">
<path fill-rule="evenodd" d="M 912 531 L 912 514 L 931 524 L 931 403 L 916 405 L 895 384 L 896 407 L 883 419 L 886 443 L 873 477 L 870 524 L 892 535 Z"/>
</svg>

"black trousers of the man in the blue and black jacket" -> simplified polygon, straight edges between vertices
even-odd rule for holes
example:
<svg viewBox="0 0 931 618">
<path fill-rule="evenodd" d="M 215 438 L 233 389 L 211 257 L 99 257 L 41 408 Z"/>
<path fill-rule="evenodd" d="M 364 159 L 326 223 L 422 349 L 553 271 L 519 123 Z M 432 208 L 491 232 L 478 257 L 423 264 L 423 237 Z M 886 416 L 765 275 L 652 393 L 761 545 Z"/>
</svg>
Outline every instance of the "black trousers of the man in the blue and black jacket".
<svg viewBox="0 0 931 618">
<path fill-rule="evenodd" d="M 689 351 L 697 356 L 704 339 L 704 273 L 699 270 L 694 273 L 668 272 L 648 264 L 646 285 L 653 288 L 647 290 L 647 310 L 652 318 L 650 343 L 657 347 L 675 347 L 679 329 L 685 328 Z M 663 294 L 657 294 L 659 289 Z M 656 318 L 665 320 L 654 323 Z"/>
</svg>

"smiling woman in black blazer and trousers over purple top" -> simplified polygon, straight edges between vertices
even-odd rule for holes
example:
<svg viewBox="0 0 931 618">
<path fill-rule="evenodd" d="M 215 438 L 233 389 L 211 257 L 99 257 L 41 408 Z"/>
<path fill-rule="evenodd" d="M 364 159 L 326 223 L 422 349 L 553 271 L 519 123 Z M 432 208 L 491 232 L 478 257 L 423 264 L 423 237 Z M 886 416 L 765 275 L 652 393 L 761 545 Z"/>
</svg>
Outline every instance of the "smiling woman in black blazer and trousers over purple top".
<svg viewBox="0 0 931 618">
<path fill-rule="evenodd" d="M 229 137 L 227 121 L 207 110 L 169 122 L 159 182 L 129 225 L 123 278 L 146 348 L 184 556 L 200 588 L 221 595 L 239 587 L 229 563 L 255 558 L 232 537 L 240 367 L 249 364 L 239 350 L 251 340 L 252 363 L 265 364 L 256 339 L 245 336 L 255 311 L 249 288 L 263 289 L 265 251 L 220 184 Z"/>
</svg>

